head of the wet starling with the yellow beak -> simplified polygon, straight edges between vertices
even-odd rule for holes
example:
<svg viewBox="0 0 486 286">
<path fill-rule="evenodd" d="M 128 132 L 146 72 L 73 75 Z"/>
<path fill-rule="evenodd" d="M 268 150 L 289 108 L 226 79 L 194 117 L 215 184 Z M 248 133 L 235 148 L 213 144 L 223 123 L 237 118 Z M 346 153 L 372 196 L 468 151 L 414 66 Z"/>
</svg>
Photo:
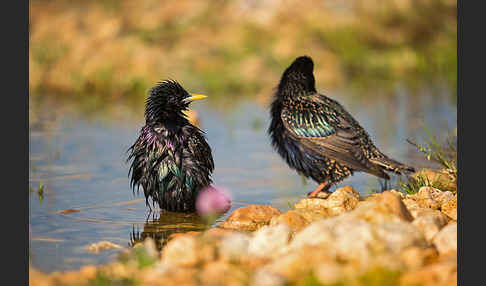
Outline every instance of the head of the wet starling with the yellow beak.
<svg viewBox="0 0 486 286">
<path fill-rule="evenodd" d="M 191 102 L 206 97 L 202 94 L 187 92 L 176 81 L 163 81 L 149 91 L 145 106 L 145 119 L 147 121 L 160 121 L 182 117 L 182 112 L 187 110 Z"/>
</svg>

